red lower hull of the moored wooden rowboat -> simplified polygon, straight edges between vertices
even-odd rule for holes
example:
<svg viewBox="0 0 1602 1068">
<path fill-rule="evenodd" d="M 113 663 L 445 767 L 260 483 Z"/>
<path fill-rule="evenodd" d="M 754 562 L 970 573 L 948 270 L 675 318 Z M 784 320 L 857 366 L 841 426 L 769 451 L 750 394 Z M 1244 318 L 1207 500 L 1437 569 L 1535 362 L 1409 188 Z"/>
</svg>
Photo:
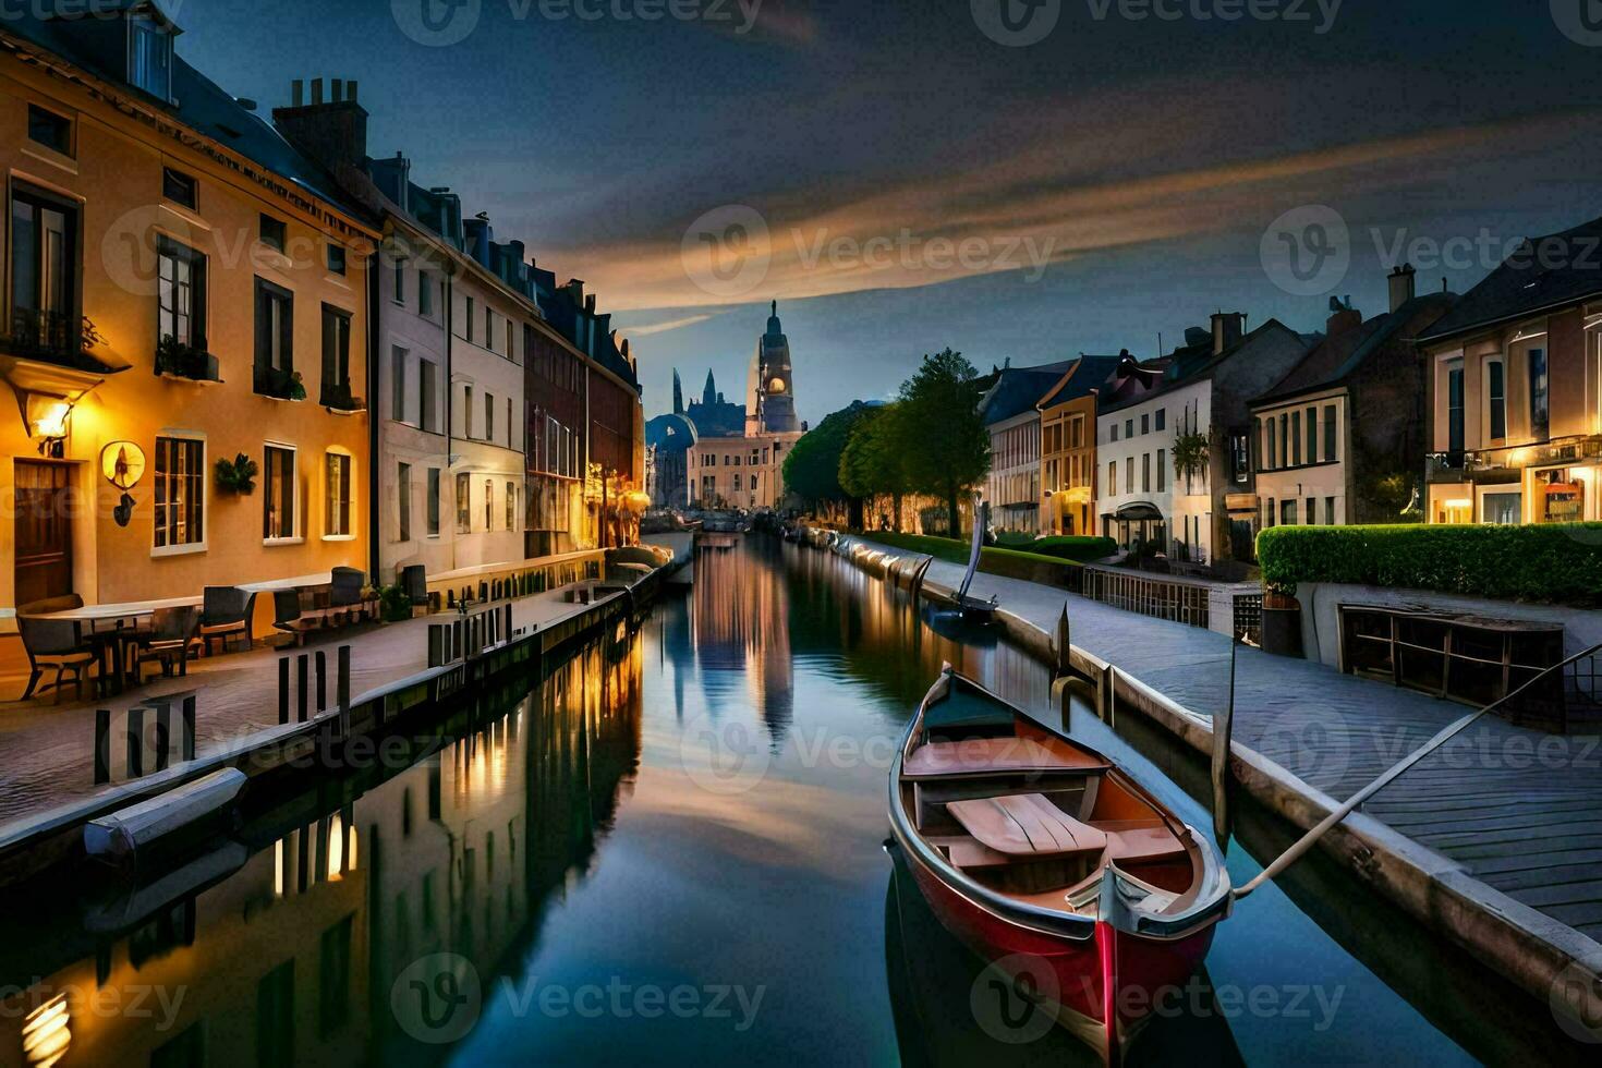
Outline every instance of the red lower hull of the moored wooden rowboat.
<svg viewBox="0 0 1602 1068">
<path fill-rule="evenodd" d="M 1181 1004 L 1179 994 L 1213 946 L 1214 922 L 1174 940 L 1152 940 L 1099 925 L 1099 937 L 1073 940 L 1011 924 L 974 905 L 936 873 L 912 860 L 913 877 L 940 924 L 1020 985 L 1038 990 L 1057 1022 L 1117 1060 L 1118 1049 L 1153 1009 Z M 1102 940 L 1113 938 L 1112 956 Z M 1041 975 L 1041 967 L 1049 977 Z M 1109 967 L 1110 966 L 1110 967 Z M 1105 975 L 1115 975 L 1109 990 Z M 1045 982 L 1043 982 L 1045 980 Z M 1053 1004 L 1054 1002 L 1054 1004 Z M 1109 1026 L 1109 1015 L 1115 1017 Z"/>
</svg>

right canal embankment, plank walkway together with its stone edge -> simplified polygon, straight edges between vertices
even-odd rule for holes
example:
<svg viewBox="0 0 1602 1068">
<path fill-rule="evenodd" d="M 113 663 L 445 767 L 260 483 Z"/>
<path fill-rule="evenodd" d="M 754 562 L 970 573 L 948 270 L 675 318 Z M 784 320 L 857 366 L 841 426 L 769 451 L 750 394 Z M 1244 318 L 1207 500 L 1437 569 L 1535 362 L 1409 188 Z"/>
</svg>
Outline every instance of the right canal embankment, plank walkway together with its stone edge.
<svg viewBox="0 0 1602 1068">
<path fill-rule="evenodd" d="M 904 588 L 921 575 L 923 596 L 936 602 L 950 602 L 963 576 L 958 565 L 862 538 L 838 538 L 833 551 Z M 1101 714 L 1141 716 L 1211 753 L 1213 714 L 1230 692 L 1227 637 L 1008 576 L 980 573 L 972 592 L 998 597 L 1009 639 L 1046 664 L 1057 663 L 1053 636 L 1067 607 L 1072 671 L 1091 684 Z M 1464 711 L 1314 661 L 1253 648 L 1235 655 L 1234 783 L 1302 829 Z M 1594 869 L 1584 849 L 1554 834 L 1602 812 L 1592 741 L 1548 741 L 1482 721 L 1461 746 L 1427 757 L 1334 828 L 1320 849 L 1354 887 L 1394 901 L 1549 1001 L 1554 1014 L 1599 1018 L 1602 885 L 1584 877 Z"/>
</svg>

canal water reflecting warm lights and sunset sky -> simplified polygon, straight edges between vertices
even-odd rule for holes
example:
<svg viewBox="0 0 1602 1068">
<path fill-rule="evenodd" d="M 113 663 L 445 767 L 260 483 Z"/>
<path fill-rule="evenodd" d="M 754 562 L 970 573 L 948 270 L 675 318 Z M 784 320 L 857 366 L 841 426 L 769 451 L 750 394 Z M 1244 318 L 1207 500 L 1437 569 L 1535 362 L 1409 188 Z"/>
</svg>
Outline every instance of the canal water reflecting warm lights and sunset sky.
<svg viewBox="0 0 1602 1068">
<path fill-rule="evenodd" d="M 1091 1063 L 884 852 L 889 756 L 942 661 L 1061 724 L 1043 666 L 937 634 L 833 556 L 703 552 L 692 591 L 532 693 L 481 695 L 138 885 L 8 901 L 0 1065 Z M 1211 825 L 1190 757 L 1069 716 Z M 1237 884 L 1288 839 L 1262 813 L 1238 833 Z M 1309 861 L 1242 903 L 1133 1062 L 1541 1044 L 1507 1023 L 1538 1006 L 1370 898 Z"/>
</svg>

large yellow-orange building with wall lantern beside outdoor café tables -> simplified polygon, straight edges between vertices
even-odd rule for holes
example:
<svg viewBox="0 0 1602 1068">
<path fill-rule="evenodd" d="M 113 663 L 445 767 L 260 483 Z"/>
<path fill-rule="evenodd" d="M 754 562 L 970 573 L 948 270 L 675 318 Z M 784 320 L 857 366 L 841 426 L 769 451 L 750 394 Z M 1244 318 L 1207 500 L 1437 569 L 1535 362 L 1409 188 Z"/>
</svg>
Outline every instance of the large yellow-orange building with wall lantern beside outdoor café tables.
<svg viewBox="0 0 1602 1068">
<path fill-rule="evenodd" d="M 147 2 L 0 24 L 6 629 L 368 565 L 378 235 L 178 34 Z"/>
</svg>

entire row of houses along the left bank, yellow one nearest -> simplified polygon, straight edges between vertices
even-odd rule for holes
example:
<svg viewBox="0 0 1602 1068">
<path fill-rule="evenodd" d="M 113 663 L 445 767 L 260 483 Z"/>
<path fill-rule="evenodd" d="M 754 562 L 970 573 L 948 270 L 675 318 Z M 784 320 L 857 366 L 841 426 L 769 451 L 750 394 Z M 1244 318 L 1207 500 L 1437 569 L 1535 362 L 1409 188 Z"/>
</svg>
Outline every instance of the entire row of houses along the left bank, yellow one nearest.
<svg viewBox="0 0 1602 1068">
<path fill-rule="evenodd" d="M 582 282 L 370 157 L 357 82 L 269 118 L 155 3 L 48 8 L 0 24 L 0 626 L 628 536 L 639 383 Z"/>
</svg>

